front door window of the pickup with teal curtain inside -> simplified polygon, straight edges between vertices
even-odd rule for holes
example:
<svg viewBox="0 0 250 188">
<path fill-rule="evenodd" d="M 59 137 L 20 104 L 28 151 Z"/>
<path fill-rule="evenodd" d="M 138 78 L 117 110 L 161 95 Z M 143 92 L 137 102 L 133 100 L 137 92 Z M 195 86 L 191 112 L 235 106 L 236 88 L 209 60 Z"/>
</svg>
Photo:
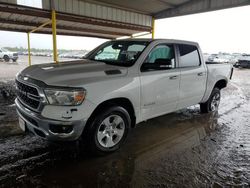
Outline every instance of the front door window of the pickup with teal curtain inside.
<svg viewBox="0 0 250 188">
<path fill-rule="evenodd" d="M 141 71 L 168 70 L 175 68 L 174 46 L 160 44 L 154 47 L 142 64 Z"/>
</svg>

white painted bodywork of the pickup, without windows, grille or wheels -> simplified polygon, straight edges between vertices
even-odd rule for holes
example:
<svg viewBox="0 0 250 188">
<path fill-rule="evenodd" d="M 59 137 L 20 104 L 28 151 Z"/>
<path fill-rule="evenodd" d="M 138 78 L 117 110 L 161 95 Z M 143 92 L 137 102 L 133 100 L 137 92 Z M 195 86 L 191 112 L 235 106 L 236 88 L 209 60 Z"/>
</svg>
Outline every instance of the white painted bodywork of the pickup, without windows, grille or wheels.
<svg viewBox="0 0 250 188">
<path fill-rule="evenodd" d="M 138 39 L 139 40 L 139 39 Z M 41 80 L 51 86 L 83 87 L 87 91 L 86 102 L 78 106 L 74 120 L 87 119 L 93 110 L 110 99 L 126 98 L 131 101 L 136 122 L 163 115 L 175 110 L 205 102 L 218 80 L 229 80 L 231 65 L 205 65 L 199 68 L 171 69 L 140 72 L 140 65 L 151 49 L 158 44 L 197 43 L 177 40 L 155 40 L 138 58 L 132 67 L 106 65 L 94 61 L 34 65 L 22 71 L 23 75 Z M 200 50 L 199 50 L 200 51 Z M 52 69 L 46 67 L 53 66 Z M 121 74 L 107 75 L 105 70 L 120 70 Z M 197 73 L 205 72 L 200 78 Z M 207 76 L 206 76 L 207 75 Z M 171 76 L 177 79 L 171 80 Z M 207 84 L 206 84 L 207 83 Z M 68 107 L 47 106 L 42 114 L 51 119 L 60 119 Z"/>
</svg>

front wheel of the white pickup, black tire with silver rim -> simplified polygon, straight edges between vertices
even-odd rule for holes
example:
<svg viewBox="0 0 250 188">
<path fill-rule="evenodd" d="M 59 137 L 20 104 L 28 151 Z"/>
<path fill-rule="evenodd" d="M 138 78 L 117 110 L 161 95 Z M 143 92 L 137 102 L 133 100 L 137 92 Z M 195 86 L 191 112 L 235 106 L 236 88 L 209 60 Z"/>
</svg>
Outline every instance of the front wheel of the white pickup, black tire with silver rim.
<svg viewBox="0 0 250 188">
<path fill-rule="evenodd" d="M 108 154 L 118 150 L 126 140 L 131 118 L 123 107 L 112 106 L 98 113 L 87 127 L 86 139 L 83 138 L 87 148 L 94 154 Z"/>
</svg>

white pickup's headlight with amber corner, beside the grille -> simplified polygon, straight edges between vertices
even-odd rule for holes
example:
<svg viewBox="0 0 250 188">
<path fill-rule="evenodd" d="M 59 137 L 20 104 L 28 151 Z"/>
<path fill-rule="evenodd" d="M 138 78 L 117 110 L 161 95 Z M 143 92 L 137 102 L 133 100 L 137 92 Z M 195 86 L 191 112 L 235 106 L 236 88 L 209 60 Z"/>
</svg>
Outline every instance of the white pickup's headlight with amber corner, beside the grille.
<svg viewBox="0 0 250 188">
<path fill-rule="evenodd" d="M 86 95 L 85 90 L 66 91 L 46 89 L 44 92 L 49 104 L 65 106 L 81 104 L 84 101 Z"/>
</svg>

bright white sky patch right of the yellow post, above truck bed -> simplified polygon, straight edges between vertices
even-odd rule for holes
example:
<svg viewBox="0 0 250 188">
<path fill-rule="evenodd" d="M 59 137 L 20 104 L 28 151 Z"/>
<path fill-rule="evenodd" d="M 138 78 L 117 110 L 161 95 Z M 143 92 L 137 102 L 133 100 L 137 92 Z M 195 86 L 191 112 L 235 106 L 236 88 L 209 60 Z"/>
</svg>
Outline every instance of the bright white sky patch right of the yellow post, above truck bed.
<svg viewBox="0 0 250 188">
<path fill-rule="evenodd" d="M 199 42 L 203 52 L 250 53 L 250 6 L 156 21 L 157 38 Z"/>
</svg>

